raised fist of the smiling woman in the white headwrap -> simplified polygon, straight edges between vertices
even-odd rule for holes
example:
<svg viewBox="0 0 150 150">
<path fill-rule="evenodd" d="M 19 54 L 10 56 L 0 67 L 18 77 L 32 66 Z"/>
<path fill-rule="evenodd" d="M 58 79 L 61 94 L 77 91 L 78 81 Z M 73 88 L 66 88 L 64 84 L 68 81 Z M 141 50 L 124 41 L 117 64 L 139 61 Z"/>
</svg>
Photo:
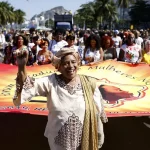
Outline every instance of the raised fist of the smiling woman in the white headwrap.
<svg viewBox="0 0 150 150">
<path fill-rule="evenodd" d="M 17 49 L 13 53 L 16 57 L 18 67 L 26 66 L 28 61 L 28 55 L 29 55 L 28 49 L 23 49 L 23 50 Z"/>
</svg>

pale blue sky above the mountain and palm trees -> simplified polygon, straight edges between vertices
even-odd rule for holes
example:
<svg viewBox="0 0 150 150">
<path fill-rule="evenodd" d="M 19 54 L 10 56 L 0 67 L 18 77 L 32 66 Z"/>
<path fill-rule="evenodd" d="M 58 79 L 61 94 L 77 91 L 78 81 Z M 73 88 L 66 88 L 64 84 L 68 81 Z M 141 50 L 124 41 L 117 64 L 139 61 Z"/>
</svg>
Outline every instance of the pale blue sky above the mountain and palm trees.
<svg viewBox="0 0 150 150">
<path fill-rule="evenodd" d="M 22 9 L 26 13 L 26 19 L 42 11 L 50 10 L 57 6 L 63 6 L 67 10 L 75 12 L 81 4 L 92 0 L 0 0 L 8 1 L 15 9 Z"/>
</svg>

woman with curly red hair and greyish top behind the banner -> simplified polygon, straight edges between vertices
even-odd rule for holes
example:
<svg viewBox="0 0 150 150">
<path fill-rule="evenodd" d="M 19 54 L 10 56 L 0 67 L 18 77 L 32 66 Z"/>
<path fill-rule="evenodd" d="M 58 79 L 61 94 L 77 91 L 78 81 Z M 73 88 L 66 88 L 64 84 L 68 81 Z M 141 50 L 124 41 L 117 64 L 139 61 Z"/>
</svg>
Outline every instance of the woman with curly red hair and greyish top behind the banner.
<svg viewBox="0 0 150 150">
<path fill-rule="evenodd" d="M 114 41 L 110 36 L 103 36 L 101 39 L 101 45 L 103 48 L 103 60 L 114 59 L 117 60 L 116 48 L 113 47 Z"/>
</svg>

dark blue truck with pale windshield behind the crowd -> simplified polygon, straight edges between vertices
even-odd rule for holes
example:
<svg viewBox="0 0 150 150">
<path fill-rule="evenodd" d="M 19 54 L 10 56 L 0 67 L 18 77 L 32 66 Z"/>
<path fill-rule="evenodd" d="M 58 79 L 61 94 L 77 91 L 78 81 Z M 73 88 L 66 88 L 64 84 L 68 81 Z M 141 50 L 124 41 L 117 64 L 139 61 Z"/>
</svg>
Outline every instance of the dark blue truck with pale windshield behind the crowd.
<svg viewBox="0 0 150 150">
<path fill-rule="evenodd" d="M 54 29 L 73 29 L 73 16 L 71 14 L 54 15 Z"/>
</svg>

